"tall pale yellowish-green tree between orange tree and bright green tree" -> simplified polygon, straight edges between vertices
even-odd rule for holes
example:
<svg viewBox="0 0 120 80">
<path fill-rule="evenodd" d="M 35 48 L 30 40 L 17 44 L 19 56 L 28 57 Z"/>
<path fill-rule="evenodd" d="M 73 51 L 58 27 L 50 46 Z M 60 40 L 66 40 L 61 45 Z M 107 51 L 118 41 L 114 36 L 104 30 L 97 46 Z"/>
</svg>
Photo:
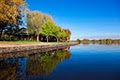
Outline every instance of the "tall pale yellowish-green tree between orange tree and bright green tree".
<svg viewBox="0 0 120 80">
<path fill-rule="evenodd" d="M 37 41 L 39 41 L 40 29 L 44 24 L 45 20 L 45 16 L 38 11 L 28 13 L 27 30 L 29 34 L 37 35 Z"/>
</svg>

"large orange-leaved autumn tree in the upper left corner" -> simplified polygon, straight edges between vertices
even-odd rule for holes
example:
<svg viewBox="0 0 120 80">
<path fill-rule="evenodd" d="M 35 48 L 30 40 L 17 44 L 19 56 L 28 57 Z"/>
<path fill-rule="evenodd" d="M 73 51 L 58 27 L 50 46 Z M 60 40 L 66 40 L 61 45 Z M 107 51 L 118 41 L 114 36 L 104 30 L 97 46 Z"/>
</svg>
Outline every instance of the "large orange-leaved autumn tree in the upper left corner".
<svg viewBox="0 0 120 80">
<path fill-rule="evenodd" d="M 17 25 L 18 16 L 22 13 L 23 0 L 0 0 L 0 37 L 8 25 Z"/>
</svg>

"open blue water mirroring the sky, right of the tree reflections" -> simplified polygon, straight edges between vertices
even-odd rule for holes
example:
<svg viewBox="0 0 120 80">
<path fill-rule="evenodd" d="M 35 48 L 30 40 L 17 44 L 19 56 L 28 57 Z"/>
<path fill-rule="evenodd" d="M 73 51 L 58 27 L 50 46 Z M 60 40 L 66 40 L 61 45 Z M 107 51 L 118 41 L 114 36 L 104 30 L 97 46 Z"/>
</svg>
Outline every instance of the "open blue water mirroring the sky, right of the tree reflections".
<svg viewBox="0 0 120 80">
<path fill-rule="evenodd" d="M 118 52 L 117 52 L 118 51 Z M 120 80 L 120 46 L 78 45 L 46 80 Z"/>
</svg>

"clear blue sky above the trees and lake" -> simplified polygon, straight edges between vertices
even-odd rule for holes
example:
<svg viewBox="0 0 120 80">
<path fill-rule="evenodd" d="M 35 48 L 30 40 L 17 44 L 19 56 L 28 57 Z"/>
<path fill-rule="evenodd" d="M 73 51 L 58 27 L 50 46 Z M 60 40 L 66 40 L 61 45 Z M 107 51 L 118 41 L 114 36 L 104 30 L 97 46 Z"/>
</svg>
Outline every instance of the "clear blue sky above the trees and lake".
<svg viewBox="0 0 120 80">
<path fill-rule="evenodd" d="M 120 0 L 27 0 L 76 38 L 120 38 Z"/>
</svg>

